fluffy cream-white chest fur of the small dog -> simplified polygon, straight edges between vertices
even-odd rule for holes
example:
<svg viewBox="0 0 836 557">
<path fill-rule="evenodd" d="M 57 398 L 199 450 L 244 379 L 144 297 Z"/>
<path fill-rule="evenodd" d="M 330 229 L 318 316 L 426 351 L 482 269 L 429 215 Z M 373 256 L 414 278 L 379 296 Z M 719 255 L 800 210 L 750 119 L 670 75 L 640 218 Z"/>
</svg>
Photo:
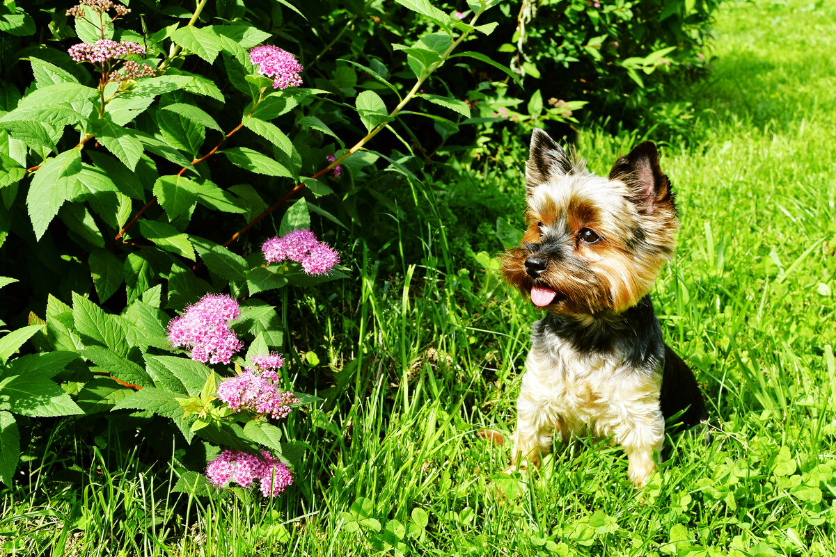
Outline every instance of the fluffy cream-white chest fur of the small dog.
<svg viewBox="0 0 836 557">
<path fill-rule="evenodd" d="M 572 433 L 587 426 L 608 435 L 620 419 L 659 408 L 661 373 L 636 370 L 612 352 L 580 352 L 548 335 L 535 342 L 526 361 L 521 394 L 548 406 Z"/>
</svg>

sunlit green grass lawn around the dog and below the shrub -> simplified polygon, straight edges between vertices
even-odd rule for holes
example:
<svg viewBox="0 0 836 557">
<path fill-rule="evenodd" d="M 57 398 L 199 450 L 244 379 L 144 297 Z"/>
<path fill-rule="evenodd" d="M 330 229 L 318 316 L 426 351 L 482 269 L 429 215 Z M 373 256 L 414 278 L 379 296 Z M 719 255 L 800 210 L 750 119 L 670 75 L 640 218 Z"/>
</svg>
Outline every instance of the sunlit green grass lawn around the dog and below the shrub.
<svg viewBox="0 0 836 557">
<path fill-rule="evenodd" d="M 683 224 L 654 299 L 717 428 L 671 439 L 643 491 L 593 439 L 503 476 L 507 445 L 479 432 L 513 427 L 535 311 L 491 273 L 393 279 L 359 248 L 359 289 L 296 302 L 333 369 L 323 410 L 288 425 L 310 445 L 292 491 L 189 499 L 174 457 L 48 450 L 3 491 L 0 553 L 836 554 L 834 31 L 832 3 L 727 3 L 711 73 L 679 92 L 699 119 L 663 144 Z M 584 131 L 578 149 L 600 174 L 639 139 Z M 84 489 L 62 483 L 73 458 Z"/>
</svg>

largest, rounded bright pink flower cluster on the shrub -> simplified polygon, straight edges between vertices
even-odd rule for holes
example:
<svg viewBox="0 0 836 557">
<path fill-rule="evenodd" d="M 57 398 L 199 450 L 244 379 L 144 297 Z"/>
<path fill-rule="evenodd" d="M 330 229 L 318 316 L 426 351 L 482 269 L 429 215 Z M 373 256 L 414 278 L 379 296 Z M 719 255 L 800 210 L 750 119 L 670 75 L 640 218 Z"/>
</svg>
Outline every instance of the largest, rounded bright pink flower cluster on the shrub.
<svg viewBox="0 0 836 557">
<path fill-rule="evenodd" d="M 168 340 L 191 349 L 196 362 L 229 363 L 242 348 L 229 322 L 241 316 L 238 302 L 229 296 L 207 294 L 168 324 Z"/>
</svg>

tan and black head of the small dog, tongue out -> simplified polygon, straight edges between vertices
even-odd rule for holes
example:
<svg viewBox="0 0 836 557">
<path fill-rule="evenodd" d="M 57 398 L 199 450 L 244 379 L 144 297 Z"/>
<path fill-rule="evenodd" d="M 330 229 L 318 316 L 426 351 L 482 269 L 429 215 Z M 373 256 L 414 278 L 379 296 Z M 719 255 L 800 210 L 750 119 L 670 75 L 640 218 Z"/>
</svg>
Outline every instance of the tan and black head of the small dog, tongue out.
<svg viewBox="0 0 836 557">
<path fill-rule="evenodd" d="M 503 256 L 502 271 L 536 306 L 619 313 L 645 296 L 673 254 L 674 195 L 650 141 L 616 160 L 604 178 L 535 129 L 526 189 L 528 228 Z"/>
</svg>

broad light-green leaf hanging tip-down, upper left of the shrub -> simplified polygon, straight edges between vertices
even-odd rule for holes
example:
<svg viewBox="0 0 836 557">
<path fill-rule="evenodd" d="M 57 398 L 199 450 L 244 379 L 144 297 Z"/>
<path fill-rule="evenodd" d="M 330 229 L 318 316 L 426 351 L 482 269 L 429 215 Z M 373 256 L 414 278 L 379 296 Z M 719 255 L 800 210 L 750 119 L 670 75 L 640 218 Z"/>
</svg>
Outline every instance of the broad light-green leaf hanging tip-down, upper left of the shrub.
<svg viewBox="0 0 836 557">
<path fill-rule="evenodd" d="M 75 147 L 46 160 L 35 173 L 26 195 L 26 205 L 36 240 L 41 239 L 49 223 L 58 215 L 74 185 L 74 177 L 80 171 L 81 149 Z"/>
</svg>

